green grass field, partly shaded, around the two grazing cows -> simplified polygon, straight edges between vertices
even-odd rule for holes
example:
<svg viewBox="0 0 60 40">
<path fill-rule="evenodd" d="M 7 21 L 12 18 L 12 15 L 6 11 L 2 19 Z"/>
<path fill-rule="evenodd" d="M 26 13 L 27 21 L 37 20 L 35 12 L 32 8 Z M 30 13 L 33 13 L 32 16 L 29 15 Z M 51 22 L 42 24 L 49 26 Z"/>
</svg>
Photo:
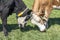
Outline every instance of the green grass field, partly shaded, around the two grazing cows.
<svg viewBox="0 0 60 40">
<path fill-rule="evenodd" d="M 28 8 L 31 9 L 33 0 L 23 0 Z M 24 32 L 21 32 L 17 25 L 16 14 L 8 17 L 9 35 L 4 36 L 0 20 L 0 40 L 60 40 L 60 10 L 53 10 L 49 18 L 49 28 L 46 32 L 39 29 L 28 21 Z"/>
</svg>

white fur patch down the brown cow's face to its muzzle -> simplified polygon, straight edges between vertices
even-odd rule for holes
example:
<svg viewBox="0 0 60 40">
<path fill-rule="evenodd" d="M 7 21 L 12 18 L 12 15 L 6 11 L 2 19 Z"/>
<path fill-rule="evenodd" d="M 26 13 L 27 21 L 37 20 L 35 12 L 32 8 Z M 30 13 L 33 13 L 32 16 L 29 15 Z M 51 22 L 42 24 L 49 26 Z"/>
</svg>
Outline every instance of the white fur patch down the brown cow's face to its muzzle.
<svg viewBox="0 0 60 40">
<path fill-rule="evenodd" d="M 37 26 L 39 27 L 40 31 L 46 30 L 46 26 L 45 26 L 44 24 L 41 24 L 41 23 L 38 22 L 38 21 L 40 21 L 40 17 L 38 17 L 37 15 L 34 15 L 34 14 L 33 14 L 33 18 L 31 19 L 31 22 L 32 22 L 33 24 L 37 25 Z"/>
</svg>

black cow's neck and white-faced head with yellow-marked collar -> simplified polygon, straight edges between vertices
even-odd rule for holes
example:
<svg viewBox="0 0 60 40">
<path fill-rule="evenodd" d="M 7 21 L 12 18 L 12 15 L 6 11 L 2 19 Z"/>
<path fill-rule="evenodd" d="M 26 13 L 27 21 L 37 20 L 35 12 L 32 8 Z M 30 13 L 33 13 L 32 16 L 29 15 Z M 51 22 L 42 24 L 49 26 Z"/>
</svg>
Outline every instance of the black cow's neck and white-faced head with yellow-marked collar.
<svg viewBox="0 0 60 40">
<path fill-rule="evenodd" d="M 16 14 L 18 19 L 18 25 L 19 27 L 24 28 L 25 24 L 30 18 L 30 10 L 27 8 L 23 0 L 15 0 L 15 5 L 17 11 Z"/>
</svg>

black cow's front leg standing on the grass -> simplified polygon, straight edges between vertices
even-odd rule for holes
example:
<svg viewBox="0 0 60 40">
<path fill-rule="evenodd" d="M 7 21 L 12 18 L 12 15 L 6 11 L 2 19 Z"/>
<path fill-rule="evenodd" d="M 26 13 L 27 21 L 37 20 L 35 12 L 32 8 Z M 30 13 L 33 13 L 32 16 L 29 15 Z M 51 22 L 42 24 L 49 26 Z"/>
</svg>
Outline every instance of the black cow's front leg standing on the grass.
<svg viewBox="0 0 60 40">
<path fill-rule="evenodd" d="M 7 31 L 7 17 L 8 17 L 8 12 L 9 12 L 9 8 L 6 7 L 3 10 L 2 16 L 1 16 L 2 26 L 3 26 L 3 31 L 4 31 L 5 36 L 8 35 L 8 31 Z"/>
</svg>

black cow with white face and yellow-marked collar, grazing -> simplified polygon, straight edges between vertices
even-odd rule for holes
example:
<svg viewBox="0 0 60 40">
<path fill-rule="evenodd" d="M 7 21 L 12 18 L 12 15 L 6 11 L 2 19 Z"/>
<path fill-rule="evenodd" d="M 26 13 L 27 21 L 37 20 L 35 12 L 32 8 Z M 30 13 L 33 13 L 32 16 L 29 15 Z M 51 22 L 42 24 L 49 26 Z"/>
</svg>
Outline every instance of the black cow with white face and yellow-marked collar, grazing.
<svg viewBox="0 0 60 40">
<path fill-rule="evenodd" d="M 2 27 L 5 36 L 8 35 L 7 17 L 15 12 L 19 22 L 18 24 L 25 25 L 25 23 L 23 24 L 23 22 L 21 21 L 23 20 L 24 22 L 26 22 L 25 16 L 27 16 L 28 10 L 29 9 L 22 0 L 0 0 L 0 17 L 2 20 Z M 21 12 L 23 12 L 22 16 L 20 14 Z M 21 17 L 23 17 L 22 20 L 20 20 Z"/>
</svg>

